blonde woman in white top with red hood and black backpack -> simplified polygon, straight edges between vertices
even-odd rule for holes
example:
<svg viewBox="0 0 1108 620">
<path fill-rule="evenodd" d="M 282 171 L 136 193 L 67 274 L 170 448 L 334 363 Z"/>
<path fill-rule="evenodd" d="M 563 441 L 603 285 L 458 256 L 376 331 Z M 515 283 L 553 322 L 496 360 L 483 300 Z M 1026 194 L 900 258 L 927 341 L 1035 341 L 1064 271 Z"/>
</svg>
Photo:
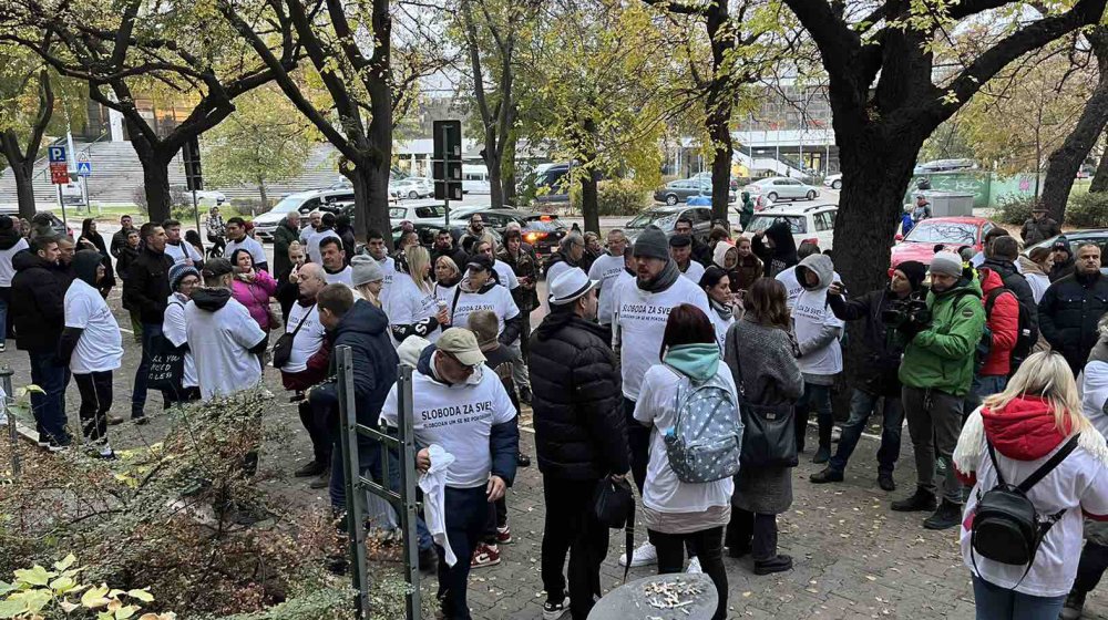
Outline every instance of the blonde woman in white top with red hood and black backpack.
<svg viewBox="0 0 1108 620">
<path fill-rule="evenodd" d="M 1055 620 L 1077 574 L 1083 514 L 1108 519 L 1108 447 L 1066 359 L 1027 358 L 966 420 L 953 459 L 974 485 L 961 540 L 978 620 Z"/>
</svg>

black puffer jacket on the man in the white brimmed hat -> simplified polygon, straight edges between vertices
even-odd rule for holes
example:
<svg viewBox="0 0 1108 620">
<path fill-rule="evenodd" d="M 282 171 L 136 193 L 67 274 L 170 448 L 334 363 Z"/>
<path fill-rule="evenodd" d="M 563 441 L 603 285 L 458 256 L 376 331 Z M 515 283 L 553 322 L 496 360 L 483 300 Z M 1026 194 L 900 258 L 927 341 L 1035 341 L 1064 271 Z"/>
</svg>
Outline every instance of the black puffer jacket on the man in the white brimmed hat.
<svg viewBox="0 0 1108 620">
<path fill-rule="evenodd" d="M 628 468 L 619 366 L 604 328 L 568 312 L 531 337 L 538 471 L 587 480 Z"/>
</svg>

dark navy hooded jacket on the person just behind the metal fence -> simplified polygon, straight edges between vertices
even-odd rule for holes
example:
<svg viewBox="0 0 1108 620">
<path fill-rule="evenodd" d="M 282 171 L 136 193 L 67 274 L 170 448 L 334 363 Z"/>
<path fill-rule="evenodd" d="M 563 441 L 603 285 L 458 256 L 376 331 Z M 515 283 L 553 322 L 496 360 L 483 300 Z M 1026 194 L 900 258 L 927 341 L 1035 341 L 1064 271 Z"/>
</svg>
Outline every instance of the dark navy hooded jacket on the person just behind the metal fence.
<svg viewBox="0 0 1108 620">
<path fill-rule="evenodd" d="M 384 399 L 397 382 L 397 365 L 400 363 L 397 350 L 389 340 L 389 318 L 380 308 L 359 299 L 327 337 L 332 352 L 339 347 L 350 347 L 358 424 L 377 428 Z M 312 389 L 308 400 L 312 405 L 330 407 L 337 412 L 339 393 L 334 354 L 330 366 L 330 378 Z M 358 436 L 361 458 L 368 458 L 369 451 L 375 445 L 369 437 Z"/>
</svg>

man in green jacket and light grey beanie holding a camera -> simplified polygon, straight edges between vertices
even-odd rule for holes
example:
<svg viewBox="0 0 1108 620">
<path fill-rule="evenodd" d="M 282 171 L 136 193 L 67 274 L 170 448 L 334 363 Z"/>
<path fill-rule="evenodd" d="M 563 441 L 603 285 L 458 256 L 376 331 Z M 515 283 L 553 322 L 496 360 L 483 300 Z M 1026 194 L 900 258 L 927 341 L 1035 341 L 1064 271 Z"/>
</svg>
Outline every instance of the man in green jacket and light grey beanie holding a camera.
<svg viewBox="0 0 1108 620">
<path fill-rule="evenodd" d="M 927 529 L 962 520 L 962 483 L 951 456 L 962 431 L 963 399 L 974 376 L 974 353 L 985 327 L 981 286 L 962 258 L 950 251 L 931 261 L 926 311 L 912 312 L 896 330 L 904 338 L 899 378 L 907 430 L 915 447 L 916 490 L 893 502 L 897 512 L 935 510 Z M 945 472 L 943 503 L 936 509 L 935 459 Z"/>
</svg>

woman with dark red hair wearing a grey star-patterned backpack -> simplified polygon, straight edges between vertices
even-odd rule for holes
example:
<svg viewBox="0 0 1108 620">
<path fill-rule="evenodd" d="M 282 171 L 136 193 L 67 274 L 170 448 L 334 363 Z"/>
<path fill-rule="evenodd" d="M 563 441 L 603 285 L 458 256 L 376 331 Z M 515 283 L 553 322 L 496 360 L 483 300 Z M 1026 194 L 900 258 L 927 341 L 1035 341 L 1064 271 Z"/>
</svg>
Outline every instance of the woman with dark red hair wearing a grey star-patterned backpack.
<svg viewBox="0 0 1108 620">
<path fill-rule="evenodd" d="M 716 586 L 719 602 L 712 620 L 727 616 L 727 571 L 724 568 L 724 526 L 731 515 L 731 476 L 715 482 L 685 483 L 670 466 L 667 434 L 681 437 L 677 424 L 680 410 L 688 414 L 681 394 L 708 393 L 702 386 L 724 390 L 716 414 L 731 411 L 733 420 L 718 420 L 724 433 L 741 435 L 738 394 L 727 365 L 720 363 L 719 345 L 711 321 L 699 308 L 688 303 L 675 307 L 666 321 L 661 339 L 660 364 L 643 376 L 643 388 L 635 404 L 635 420 L 650 427 L 650 452 L 643 485 L 643 520 L 650 542 L 658 551 L 658 574 L 680 572 L 685 547 L 696 555 L 700 567 Z M 730 399 L 732 407 L 726 406 Z M 689 414 L 691 415 L 691 414 Z M 714 425 L 715 426 L 715 425 Z"/>
</svg>

